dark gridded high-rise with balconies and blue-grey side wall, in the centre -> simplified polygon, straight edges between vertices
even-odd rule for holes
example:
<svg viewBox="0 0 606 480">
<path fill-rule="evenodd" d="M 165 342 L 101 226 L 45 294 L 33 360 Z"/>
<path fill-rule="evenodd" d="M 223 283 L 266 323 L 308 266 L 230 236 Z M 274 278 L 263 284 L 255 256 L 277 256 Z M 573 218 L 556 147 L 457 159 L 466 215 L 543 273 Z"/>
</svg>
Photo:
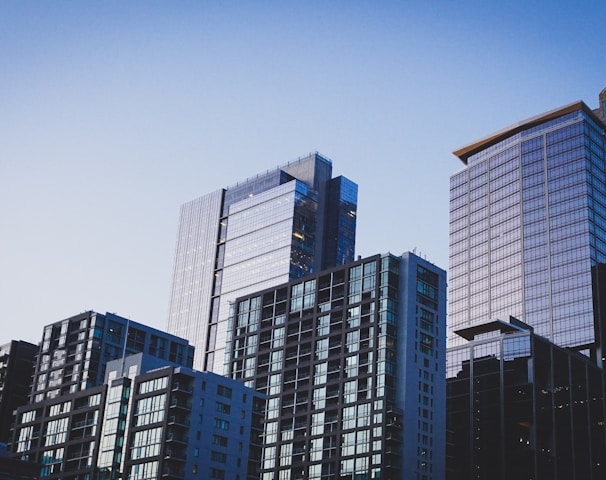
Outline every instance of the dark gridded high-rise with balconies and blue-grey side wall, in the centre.
<svg viewBox="0 0 606 480">
<path fill-rule="evenodd" d="M 443 479 L 445 309 L 412 253 L 239 297 L 228 370 L 267 395 L 260 478 Z"/>
</svg>

